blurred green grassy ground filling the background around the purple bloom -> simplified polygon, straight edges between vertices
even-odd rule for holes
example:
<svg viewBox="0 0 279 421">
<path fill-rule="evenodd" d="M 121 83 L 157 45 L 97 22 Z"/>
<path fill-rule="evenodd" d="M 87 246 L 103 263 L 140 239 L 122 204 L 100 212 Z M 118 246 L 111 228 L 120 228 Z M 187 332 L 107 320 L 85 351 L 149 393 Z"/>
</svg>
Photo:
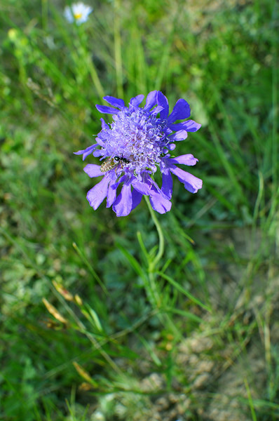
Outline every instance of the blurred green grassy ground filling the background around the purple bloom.
<svg viewBox="0 0 279 421">
<path fill-rule="evenodd" d="M 0 419 L 278 420 L 277 4 L 63 6 L 0 6 Z M 154 89 L 203 189 L 94 211 L 95 104 Z"/>
</svg>

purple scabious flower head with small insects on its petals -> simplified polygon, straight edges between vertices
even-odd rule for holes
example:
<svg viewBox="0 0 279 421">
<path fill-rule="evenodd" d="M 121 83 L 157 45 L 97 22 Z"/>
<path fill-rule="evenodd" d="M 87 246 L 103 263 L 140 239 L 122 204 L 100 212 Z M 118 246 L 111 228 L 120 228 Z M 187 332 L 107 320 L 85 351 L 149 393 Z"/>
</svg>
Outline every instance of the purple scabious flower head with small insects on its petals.
<svg viewBox="0 0 279 421">
<path fill-rule="evenodd" d="M 107 208 L 112 206 L 117 216 L 130 213 L 142 200 L 143 194 L 149 196 L 152 208 L 159 213 L 170 210 L 172 203 L 172 174 L 191 193 L 196 193 L 203 185 L 200 178 L 187 173 L 177 166 L 193 166 L 198 159 L 192 154 L 170 156 L 175 142 L 186 139 L 188 132 L 195 132 L 200 124 L 193 120 L 175 123 L 190 116 L 190 107 L 185 100 L 178 100 L 169 114 L 168 100 L 160 91 L 147 95 L 144 107 L 139 107 L 144 95 L 137 95 L 125 107 L 123 100 L 105 96 L 109 105 L 96 105 L 98 111 L 113 114 L 109 125 L 102 121 L 102 131 L 98 133 L 95 145 L 75 152 L 86 156 L 100 157 L 102 164 L 88 163 L 84 171 L 89 177 L 102 176 L 87 194 L 93 209 L 107 198 Z M 161 188 L 154 181 L 153 174 L 161 171 Z M 118 186 L 121 191 L 117 194 Z"/>
</svg>

